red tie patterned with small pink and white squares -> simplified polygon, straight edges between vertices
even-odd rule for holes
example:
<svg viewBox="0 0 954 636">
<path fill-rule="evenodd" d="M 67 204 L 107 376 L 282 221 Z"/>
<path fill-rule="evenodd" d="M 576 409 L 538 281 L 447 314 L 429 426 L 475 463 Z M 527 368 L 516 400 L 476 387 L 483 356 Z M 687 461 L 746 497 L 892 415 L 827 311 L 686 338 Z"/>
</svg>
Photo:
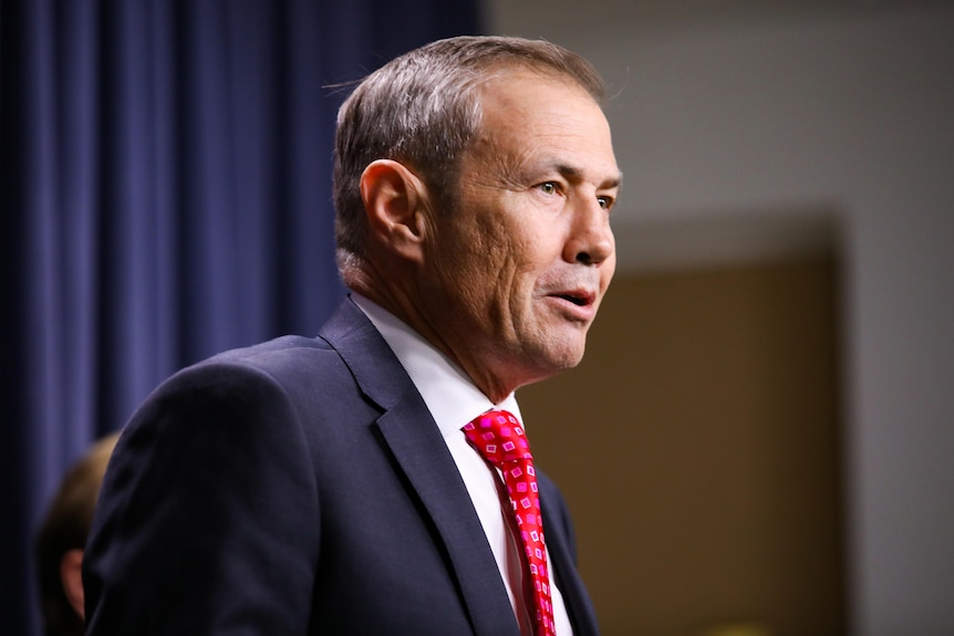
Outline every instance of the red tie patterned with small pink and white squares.
<svg viewBox="0 0 954 636">
<path fill-rule="evenodd" d="M 465 426 L 464 434 L 484 459 L 504 473 L 517 530 L 527 554 L 527 572 L 530 574 L 536 605 L 537 634 L 553 636 L 557 629 L 553 626 L 553 606 L 550 604 L 543 519 L 540 517 L 533 456 L 530 455 L 523 427 L 506 410 L 488 410 Z"/>
</svg>

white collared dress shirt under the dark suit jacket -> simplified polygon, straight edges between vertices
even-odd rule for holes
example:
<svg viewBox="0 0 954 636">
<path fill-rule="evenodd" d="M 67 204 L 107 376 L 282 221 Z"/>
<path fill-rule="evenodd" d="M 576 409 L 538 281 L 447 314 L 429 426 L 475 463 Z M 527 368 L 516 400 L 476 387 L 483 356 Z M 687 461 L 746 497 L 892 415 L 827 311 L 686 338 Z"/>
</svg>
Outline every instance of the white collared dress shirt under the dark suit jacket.
<svg viewBox="0 0 954 636">
<path fill-rule="evenodd" d="M 411 376 L 434 421 L 437 423 L 437 428 L 440 429 L 447 449 L 457 465 L 457 470 L 460 471 L 477 517 L 484 526 L 484 533 L 490 543 L 490 550 L 497 560 L 497 567 L 510 596 L 510 604 L 514 606 L 520 632 L 526 636 L 532 636 L 533 626 L 523 594 L 514 593 L 515 590 L 523 588 L 523 570 L 516 538 L 504 517 L 510 514 L 504 478 L 470 446 L 462 430 L 468 421 L 491 408 L 508 410 L 522 423 L 517 398 L 511 393 L 501 403 L 492 404 L 460 367 L 397 316 L 356 292 L 352 292 L 352 298 Z M 525 426 L 523 429 L 526 428 Z M 545 528 L 543 532 L 546 531 Z M 549 553 L 547 562 L 552 563 Z M 553 580 L 552 569 L 550 571 L 550 595 L 557 636 L 572 636 L 573 630 L 563 604 L 563 596 L 560 594 L 558 582 Z"/>
</svg>

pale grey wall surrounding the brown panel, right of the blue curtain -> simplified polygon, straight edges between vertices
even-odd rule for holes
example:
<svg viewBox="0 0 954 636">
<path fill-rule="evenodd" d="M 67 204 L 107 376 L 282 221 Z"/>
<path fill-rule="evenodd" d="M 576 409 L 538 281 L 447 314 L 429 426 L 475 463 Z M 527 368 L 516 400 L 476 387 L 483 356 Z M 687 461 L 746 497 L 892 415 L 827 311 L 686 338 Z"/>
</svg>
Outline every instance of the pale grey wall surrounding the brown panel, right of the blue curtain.
<svg viewBox="0 0 954 636">
<path fill-rule="evenodd" d="M 954 634 L 954 2 L 485 6 L 611 83 L 621 261 L 656 223 L 726 228 L 685 244 L 697 262 L 725 234 L 764 249 L 725 215 L 833 211 L 851 634 Z"/>
</svg>

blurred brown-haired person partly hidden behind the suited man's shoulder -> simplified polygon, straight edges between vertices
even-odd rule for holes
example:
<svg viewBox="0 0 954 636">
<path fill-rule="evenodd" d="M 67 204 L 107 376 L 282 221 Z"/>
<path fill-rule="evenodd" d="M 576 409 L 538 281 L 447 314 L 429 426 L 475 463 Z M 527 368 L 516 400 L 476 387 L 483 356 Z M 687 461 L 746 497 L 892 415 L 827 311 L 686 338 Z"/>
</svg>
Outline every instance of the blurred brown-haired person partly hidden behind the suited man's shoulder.
<svg viewBox="0 0 954 636">
<path fill-rule="evenodd" d="M 83 634 L 83 549 L 118 437 L 118 432 L 103 437 L 70 468 L 37 533 L 40 608 L 46 636 Z"/>
</svg>

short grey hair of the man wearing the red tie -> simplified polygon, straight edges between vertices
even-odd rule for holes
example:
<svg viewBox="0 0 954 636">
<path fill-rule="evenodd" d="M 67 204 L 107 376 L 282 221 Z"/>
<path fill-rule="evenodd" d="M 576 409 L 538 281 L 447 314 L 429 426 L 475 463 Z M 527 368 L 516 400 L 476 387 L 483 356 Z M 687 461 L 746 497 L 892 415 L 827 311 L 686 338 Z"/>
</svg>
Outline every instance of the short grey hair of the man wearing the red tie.
<svg viewBox="0 0 954 636">
<path fill-rule="evenodd" d="M 433 42 L 371 73 L 338 112 L 334 206 L 338 264 L 361 267 L 367 219 L 361 175 L 376 159 L 413 169 L 445 210 L 454 205 L 459 163 L 481 121 L 479 86 L 497 73 L 527 69 L 569 80 L 597 103 L 605 85 L 584 59 L 542 40 L 459 37 Z"/>
</svg>

